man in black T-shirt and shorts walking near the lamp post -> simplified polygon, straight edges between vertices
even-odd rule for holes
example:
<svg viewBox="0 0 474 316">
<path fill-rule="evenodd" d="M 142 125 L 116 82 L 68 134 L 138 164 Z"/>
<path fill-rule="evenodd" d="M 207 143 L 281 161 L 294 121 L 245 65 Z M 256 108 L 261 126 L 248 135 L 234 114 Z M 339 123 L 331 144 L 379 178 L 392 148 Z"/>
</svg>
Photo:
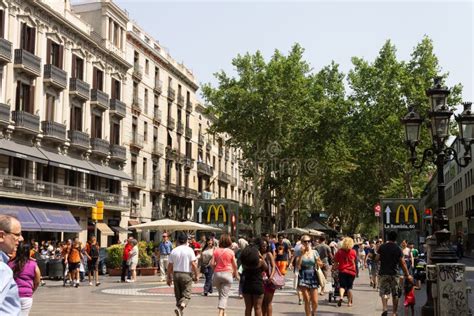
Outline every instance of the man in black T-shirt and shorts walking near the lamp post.
<svg viewBox="0 0 474 316">
<path fill-rule="evenodd" d="M 380 261 L 379 270 L 379 294 L 382 299 L 383 313 L 382 316 L 388 315 L 388 296 L 392 295 L 393 315 L 397 314 L 398 299 L 401 296 L 401 289 L 398 278 L 398 266 L 401 267 L 405 277 L 413 282 L 413 277 L 408 273 L 408 269 L 403 259 L 403 253 L 398 247 L 397 232 L 389 231 L 388 240 L 382 244 L 377 250 L 375 256 L 377 261 Z"/>
</svg>

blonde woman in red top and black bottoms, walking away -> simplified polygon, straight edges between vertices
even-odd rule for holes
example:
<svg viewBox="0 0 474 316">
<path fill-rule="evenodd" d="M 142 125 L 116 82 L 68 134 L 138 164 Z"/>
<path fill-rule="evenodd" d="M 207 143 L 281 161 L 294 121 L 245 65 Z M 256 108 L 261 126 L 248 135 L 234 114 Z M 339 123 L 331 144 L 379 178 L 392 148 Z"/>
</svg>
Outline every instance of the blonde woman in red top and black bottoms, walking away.
<svg viewBox="0 0 474 316">
<path fill-rule="evenodd" d="M 357 254 L 354 249 L 354 240 L 346 237 L 342 240 L 341 249 L 334 256 L 332 269 L 339 272 L 339 301 L 337 306 L 341 306 L 344 292 L 347 292 L 348 305 L 352 306 L 352 285 L 356 276 Z"/>
</svg>

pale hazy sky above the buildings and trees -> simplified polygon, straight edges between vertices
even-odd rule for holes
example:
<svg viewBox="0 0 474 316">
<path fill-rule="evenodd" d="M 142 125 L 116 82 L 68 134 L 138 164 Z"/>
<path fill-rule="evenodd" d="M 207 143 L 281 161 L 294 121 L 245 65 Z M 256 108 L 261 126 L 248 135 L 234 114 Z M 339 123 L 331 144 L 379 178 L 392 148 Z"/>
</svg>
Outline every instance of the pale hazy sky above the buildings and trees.
<svg viewBox="0 0 474 316">
<path fill-rule="evenodd" d="M 461 83 L 473 100 L 473 1 L 161 1 L 116 0 L 129 17 L 191 69 L 199 83 L 216 86 L 213 74 L 233 74 L 238 54 L 294 43 L 315 72 L 334 60 L 344 73 L 351 57 L 373 61 L 386 40 L 409 60 L 424 35 L 433 40 L 448 86 Z"/>
</svg>

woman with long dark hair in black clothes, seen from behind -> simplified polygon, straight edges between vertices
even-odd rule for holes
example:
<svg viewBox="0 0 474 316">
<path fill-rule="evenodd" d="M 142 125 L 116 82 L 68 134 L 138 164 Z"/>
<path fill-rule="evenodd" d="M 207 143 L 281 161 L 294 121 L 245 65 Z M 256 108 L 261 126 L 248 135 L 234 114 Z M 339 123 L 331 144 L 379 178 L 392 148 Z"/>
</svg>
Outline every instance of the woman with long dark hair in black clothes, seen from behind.
<svg viewBox="0 0 474 316">
<path fill-rule="evenodd" d="M 263 277 L 268 266 L 264 257 L 255 246 L 247 246 L 241 253 L 242 261 L 242 295 L 245 302 L 245 316 L 251 316 L 252 310 L 255 316 L 262 316 L 263 303 Z"/>
</svg>

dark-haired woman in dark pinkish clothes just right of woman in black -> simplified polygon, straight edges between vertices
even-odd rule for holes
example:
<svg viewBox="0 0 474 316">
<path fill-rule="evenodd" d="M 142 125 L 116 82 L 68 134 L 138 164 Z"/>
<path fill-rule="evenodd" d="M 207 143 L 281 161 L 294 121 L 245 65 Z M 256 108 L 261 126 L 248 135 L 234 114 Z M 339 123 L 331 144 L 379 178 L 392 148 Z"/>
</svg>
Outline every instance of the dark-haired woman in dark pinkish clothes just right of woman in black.
<svg viewBox="0 0 474 316">
<path fill-rule="evenodd" d="M 261 238 L 257 239 L 255 244 L 260 251 L 260 254 L 263 257 L 267 265 L 267 269 L 263 273 L 263 303 L 262 303 L 262 314 L 264 316 L 271 316 L 273 313 L 272 301 L 273 296 L 275 295 L 275 287 L 273 286 L 272 279 L 275 274 L 276 264 L 273 253 L 270 250 L 270 244 L 267 239 Z"/>
</svg>

